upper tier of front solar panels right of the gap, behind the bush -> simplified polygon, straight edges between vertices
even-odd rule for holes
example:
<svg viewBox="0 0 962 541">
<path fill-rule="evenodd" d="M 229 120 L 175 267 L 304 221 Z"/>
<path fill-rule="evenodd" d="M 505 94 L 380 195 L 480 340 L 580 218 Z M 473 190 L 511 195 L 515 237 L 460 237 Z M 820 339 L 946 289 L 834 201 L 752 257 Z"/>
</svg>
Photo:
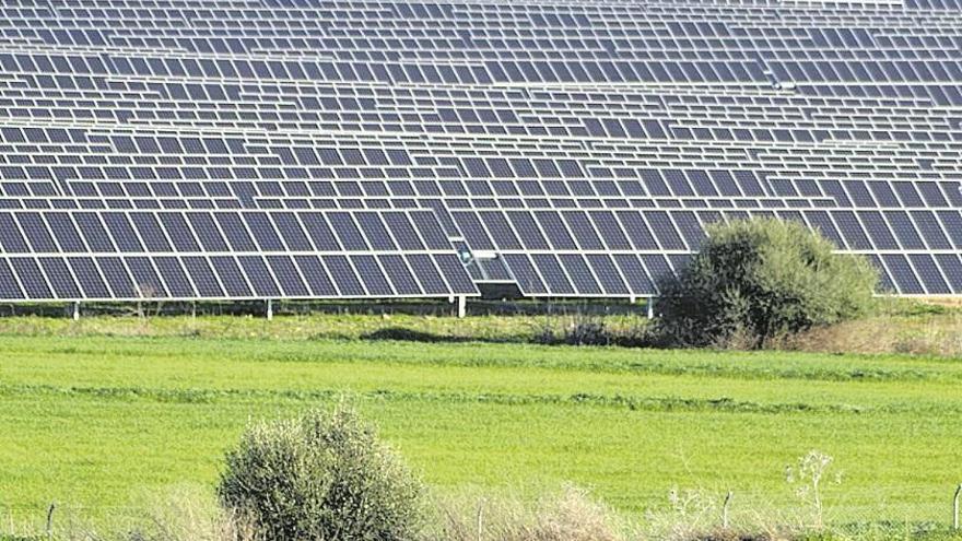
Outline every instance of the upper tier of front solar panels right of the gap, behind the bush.
<svg viewBox="0 0 962 541">
<path fill-rule="evenodd" d="M 691 211 L 453 211 L 472 250 L 697 250 L 704 226 L 771 216 L 819 230 L 842 249 L 962 250 L 958 210 L 691 212 Z"/>
</svg>

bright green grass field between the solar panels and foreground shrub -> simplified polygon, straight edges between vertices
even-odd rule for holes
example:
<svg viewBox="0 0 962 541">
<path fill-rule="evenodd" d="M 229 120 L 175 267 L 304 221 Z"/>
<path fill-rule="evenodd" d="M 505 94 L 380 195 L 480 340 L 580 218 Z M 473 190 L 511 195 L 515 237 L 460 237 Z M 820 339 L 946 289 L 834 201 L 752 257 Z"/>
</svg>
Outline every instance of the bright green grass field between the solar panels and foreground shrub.
<svg viewBox="0 0 962 541">
<path fill-rule="evenodd" d="M 952 358 L 9 334 L 0 508 L 96 517 L 213 486 L 250 420 L 342 395 L 442 493 L 574 482 L 633 514 L 672 487 L 791 506 L 785 467 L 820 449 L 844 471 L 837 516 L 947 520 L 962 480 Z"/>
</svg>

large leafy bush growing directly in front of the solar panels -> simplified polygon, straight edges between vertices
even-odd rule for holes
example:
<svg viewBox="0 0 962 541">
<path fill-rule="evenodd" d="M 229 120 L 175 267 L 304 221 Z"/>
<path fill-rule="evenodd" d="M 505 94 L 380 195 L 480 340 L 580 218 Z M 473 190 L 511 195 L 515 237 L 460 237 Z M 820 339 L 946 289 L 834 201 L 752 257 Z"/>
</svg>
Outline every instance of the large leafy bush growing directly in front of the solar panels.
<svg viewBox="0 0 962 541">
<path fill-rule="evenodd" d="M 774 219 L 709 227 L 701 251 L 659 283 L 662 345 L 760 348 L 766 340 L 866 314 L 878 275 L 863 257 Z"/>
</svg>

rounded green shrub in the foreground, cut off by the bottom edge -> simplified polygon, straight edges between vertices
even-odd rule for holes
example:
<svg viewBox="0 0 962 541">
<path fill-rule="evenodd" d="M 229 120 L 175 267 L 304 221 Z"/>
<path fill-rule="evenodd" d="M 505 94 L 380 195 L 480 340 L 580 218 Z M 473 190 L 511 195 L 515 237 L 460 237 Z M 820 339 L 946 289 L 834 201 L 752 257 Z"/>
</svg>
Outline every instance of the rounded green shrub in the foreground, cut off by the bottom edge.
<svg viewBox="0 0 962 541">
<path fill-rule="evenodd" d="M 422 526 L 421 484 L 344 405 L 253 426 L 226 462 L 221 503 L 265 541 L 402 541 Z"/>
</svg>

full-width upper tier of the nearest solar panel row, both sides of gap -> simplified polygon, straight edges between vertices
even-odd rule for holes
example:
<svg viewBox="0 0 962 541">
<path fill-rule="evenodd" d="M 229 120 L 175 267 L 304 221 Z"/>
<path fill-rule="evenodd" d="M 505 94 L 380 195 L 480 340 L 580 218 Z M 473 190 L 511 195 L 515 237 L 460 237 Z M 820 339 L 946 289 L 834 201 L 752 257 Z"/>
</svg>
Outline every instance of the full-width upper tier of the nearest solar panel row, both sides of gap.
<svg viewBox="0 0 962 541">
<path fill-rule="evenodd" d="M 5 254 L 344 252 L 453 250 L 693 251 L 711 223 L 778 216 L 842 249 L 962 249 L 962 214 L 946 211 L 7 212 Z M 448 222 L 450 220 L 450 222 Z M 443 223 L 447 232 L 443 228 Z"/>
</svg>

